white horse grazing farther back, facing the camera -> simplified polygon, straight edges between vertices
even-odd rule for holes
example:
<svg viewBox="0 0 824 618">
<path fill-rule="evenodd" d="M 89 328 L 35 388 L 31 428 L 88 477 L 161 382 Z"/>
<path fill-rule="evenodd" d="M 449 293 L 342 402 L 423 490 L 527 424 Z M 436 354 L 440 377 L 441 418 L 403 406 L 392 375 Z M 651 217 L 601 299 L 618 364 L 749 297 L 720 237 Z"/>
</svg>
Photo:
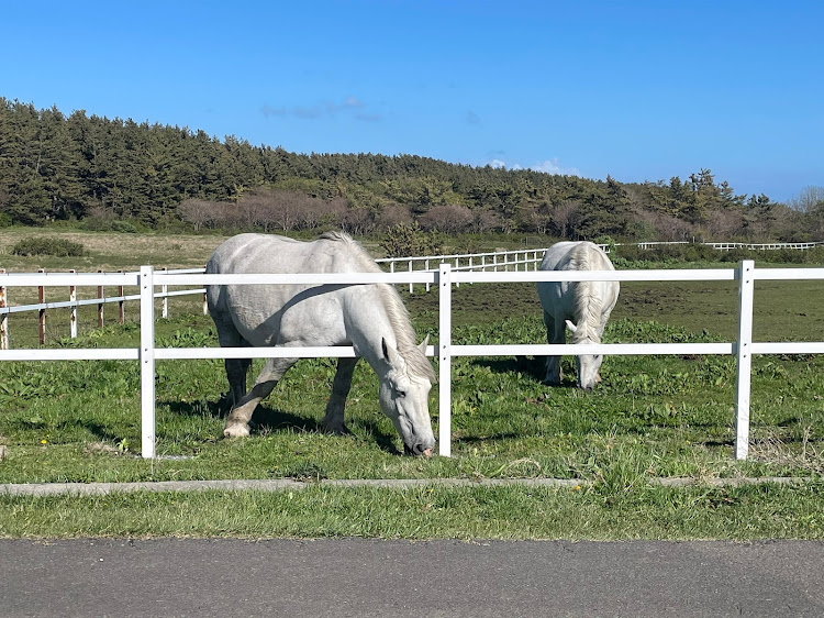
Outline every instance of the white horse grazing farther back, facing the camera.
<svg viewBox="0 0 824 618">
<path fill-rule="evenodd" d="M 561 242 L 550 246 L 542 271 L 614 271 L 606 254 L 591 242 Z M 574 343 L 601 343 L 603 329 L 619 297 L 617 282 L 539 282 L 548 343 L 565 343 L 565 324 Z M 576 356 L 578 386 L 592 390 L 601 380 L 602 354 Z M 546 357 L 545 384 L 560 384 L 560 356 Z"/>
</svg>

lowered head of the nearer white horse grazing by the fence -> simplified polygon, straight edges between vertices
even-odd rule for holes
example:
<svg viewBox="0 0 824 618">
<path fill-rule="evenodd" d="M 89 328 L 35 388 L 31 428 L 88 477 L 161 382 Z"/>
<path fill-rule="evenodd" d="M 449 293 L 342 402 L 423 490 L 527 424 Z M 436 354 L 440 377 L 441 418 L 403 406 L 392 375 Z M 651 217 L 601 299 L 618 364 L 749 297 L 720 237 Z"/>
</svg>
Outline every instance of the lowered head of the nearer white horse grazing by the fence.
<svg viewBox="0 0 824 618">
<path fill-rule="evenodd" d="M 425 340 L 420 346 L 422 353 L 426 343 Z M 380 373 L 380 407 L 403 440 L 404 453 L 431 455 L 435 446 L 428 404 L 432 382 L 410 373 L 403 355 L 386 339 L 381 340 L 381 349 L 388 369 Z"/>
</svg>

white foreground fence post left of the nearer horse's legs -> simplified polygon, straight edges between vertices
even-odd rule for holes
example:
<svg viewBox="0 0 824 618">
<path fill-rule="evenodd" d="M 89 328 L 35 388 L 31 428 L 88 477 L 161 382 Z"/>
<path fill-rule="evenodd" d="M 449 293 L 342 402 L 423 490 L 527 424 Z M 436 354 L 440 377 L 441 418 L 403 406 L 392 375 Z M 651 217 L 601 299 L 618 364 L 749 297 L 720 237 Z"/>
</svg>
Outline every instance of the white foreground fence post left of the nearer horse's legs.
<svg viewBox="0 0 824 618">
<path fill-rule="evenodd" d="M 141 454 L 155 456 L 155 285 L 152 266 L 141 266 Z"/>
</svg>

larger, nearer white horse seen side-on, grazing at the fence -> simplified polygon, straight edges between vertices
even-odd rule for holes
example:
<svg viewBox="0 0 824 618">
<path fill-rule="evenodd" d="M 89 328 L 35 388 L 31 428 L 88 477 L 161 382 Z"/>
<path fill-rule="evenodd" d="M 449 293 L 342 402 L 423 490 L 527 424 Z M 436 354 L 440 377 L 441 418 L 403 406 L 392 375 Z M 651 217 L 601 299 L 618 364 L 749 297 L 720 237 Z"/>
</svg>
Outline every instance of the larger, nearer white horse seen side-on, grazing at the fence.
<svg viewBox="0 0 824 618">
<path fill-rule="evenodd" d="M 379 273 L 360 244 L 330 232 L 313 242 L 266 234 L 241 234 L 221 244 L 207 273 Z M 428 393 L 435 372 L 424 355 L 426 342 L 415 335 L 394 287 L 375 285 L 212 285 L 209 310 L 222 346 L 279 347 L 353 345 L 380 378 L 379 399 L 401 435 L 404 452 L 430 455 L 435 444 Z M 323 419 L 333 432 L 346 433 L 344 407 L 358 358 L 338 358 L 332 395 Z M 224 435 L 249 434 L 248 421 L 297 358 L 267 358 L 246 394 L 250 360 L 226 358 L 234 406 Z"/>
</svg>

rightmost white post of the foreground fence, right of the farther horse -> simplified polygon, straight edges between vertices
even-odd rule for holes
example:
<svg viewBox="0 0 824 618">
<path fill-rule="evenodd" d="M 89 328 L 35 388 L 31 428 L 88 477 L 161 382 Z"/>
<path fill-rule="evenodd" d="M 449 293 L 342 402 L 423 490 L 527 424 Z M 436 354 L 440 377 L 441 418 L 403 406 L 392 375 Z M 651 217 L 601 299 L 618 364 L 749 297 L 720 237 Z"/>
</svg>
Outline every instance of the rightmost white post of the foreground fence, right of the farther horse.
<svg viewBox="0 0 824 618">
<path fill-rule="evenodd" d="M 749 451 L 749 386 L 753 368 L 753 298 L 755 262 L 742 260 L 738 271 L 738 343 L 735 379 L 735 459 L 746 460 Z"/>
</svg>

